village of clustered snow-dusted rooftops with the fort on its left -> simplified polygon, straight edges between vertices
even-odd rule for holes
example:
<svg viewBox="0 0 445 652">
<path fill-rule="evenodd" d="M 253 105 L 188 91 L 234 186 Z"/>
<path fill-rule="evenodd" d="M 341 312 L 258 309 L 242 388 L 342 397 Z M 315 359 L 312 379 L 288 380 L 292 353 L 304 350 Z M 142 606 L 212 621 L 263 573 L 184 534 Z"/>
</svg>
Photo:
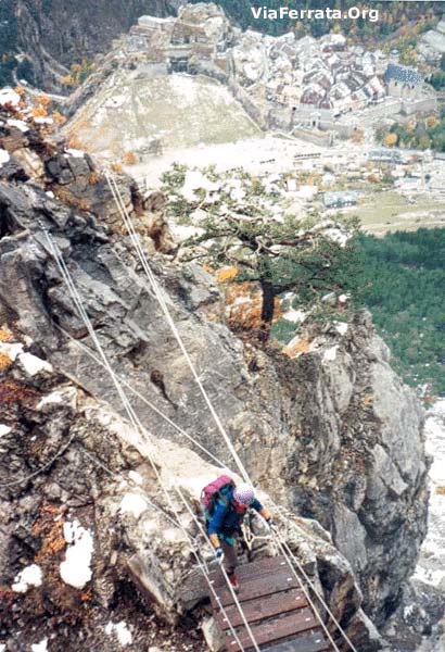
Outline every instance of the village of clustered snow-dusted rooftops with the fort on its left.
<svg viewBox="0 0 445 652">
<path fill-rule="evenodd" d="M 147 75 L 204 74 L 226 84 L 264 128 L 309 127 L 348 137 L 353 112 L 376 124 L 432 112 L 434 90 L 399 53 L 351 46 L 343 34 L 271 37 L 233 27 L 214 4 L 186 5 L 177 18 L 141 16 L 120 47 Z"/>
</svg>

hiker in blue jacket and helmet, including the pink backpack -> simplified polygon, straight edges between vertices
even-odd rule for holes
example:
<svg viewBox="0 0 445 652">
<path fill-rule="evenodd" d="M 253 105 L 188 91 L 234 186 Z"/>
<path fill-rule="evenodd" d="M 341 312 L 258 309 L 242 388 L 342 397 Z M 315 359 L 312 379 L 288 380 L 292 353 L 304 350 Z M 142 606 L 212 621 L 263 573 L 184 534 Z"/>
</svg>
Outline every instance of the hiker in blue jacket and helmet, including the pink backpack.
<svg viewBox="0 0 445 652">
<path fill-rule="evenodd" d="M 255 498 L 249 485 L 234 485 L 228 476 L 221 476 L 203 489 L 201 503 L 207 526 L 208 538 L 215 549 L 215 559 L 225 564 L 229 581 L 238 591 L 234 569 L 238 565 L 237 539 L 242 537 L 241 525 L 249 509 L 253 509 L 266 521 L 270 529 L 275 523 L 269 512 Z"/>
</svg>

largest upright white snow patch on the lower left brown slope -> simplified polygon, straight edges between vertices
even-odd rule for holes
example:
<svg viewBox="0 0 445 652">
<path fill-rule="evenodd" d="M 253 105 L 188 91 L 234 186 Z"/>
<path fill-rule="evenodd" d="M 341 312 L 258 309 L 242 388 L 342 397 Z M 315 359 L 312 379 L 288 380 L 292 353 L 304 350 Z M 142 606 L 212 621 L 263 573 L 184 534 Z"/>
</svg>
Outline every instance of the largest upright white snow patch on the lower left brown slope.
<svg viewBox="0 0 445 652">
<path fill-rule="evenodd" d="M 61 563 L 60 574 L 63 581 L 76 589 L 82 589 L 90 581 L 93 543 L 91 532 L 80 526 L 78 521 L 64 523 L 63 535 L 69 543 L 65 561 Z"/>
</svg>

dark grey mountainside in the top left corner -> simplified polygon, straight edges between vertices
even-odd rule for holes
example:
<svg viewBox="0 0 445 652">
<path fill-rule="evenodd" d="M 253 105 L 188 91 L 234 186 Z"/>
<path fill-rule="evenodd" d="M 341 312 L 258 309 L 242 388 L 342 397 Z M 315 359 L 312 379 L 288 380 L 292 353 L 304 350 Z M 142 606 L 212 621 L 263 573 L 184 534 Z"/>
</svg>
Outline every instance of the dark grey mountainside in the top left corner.
<svg viewBox="0 0 445 652">
<path fill-rule="evenodd" d="M 164 16 L 177 0 L 13 0 L 18 50 L 30 59 L 37 84 L 59 90 L 73 63 L 107 52 L 114 38 L 126 33 L 138 16 Z"/>
</svg>

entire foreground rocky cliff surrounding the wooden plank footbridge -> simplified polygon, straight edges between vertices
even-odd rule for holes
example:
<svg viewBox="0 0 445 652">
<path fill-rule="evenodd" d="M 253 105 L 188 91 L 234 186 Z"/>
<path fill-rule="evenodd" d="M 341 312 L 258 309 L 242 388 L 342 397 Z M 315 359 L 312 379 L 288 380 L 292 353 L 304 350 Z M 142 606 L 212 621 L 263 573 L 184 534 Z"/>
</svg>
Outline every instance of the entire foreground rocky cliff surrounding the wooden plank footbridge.
<svg viewBox="0 0 445 652">
<path fill-rule="evenodd" d="M 1 481 L 21 484 L 2 489 L 1 584 L 12 611 L 1 636 L 9 649 L 22 650 L 30 635 L 56 637 L 60 630 L 53 649 L 62 650 L 71 623 L 79 637 L 71 649 L 85 649 L 86 641 L 103 649 L 105 618 L 113 634 L 115 618 L 125 613 L 137 641 L 144 629 L 140 614 L 157 613 L 194 631 L 203 617 L 196 607 L 203 593 L 194 588 L 192 601 L 183 594 L 182 585 L 194 573 L 187 540 L 147 507 L 149 500 L 168 510 L 148 464 L 150 449 L 122 421 L 115 386 L 89 353 L 94 347 L 43 229 L 56 239 L 112 366 L 131 387 L 131 403 L 155 437 L 156 464 L 167 486 L 182 487 L 195 501 L 216 469 L 160 411 L 213 455 L 232 461 L 122 235 L 101 171 L 88 155 L 49 143 L 31 118 L 17 120 L 17 109 L 9 111 L 0 126 L 0 305 L 9 325 L 2 336 L 8 341 L 1 359 L 7 453 Z M 128 179 L 119 183 L 239 455 L 254 481 L 281 505 L 274 510 L 283 531 L 359 650 L 379 649 L 368 616 L 384 623 L 425 534 L 427 462 L 414 393 L 391 369 L 387 349 L 366 313 L 341 331 L 329 323 L 308 327 L 310 346 L 295 359 L 236 337 L 214 278 L 160 251 L 174 248 L 165 225 L 160 240 L 158 221 L 157 236 L 150 237 L 156 202 L 144 202 Z M 46 361 L 36 371 L 33 359 L 30 376 L 29 354 Z M 28 474 L 33 477 L 22 484 Z M 125 500 L 135 482 L 136 498 Z M 295 514 L 318 524 L 295 521 Z M 188 527 L 194 536 L 192 524 Z M 61 564 L 80 540 L 91 564 L 81 586 L 69 585 Z M 21 576 L 33 565 L 40 570 Z M 26 584 L 29 573 L 34 584 L 15 591 L 13 585 Z M 136 586 L 138 598 L 129 601 Z M 154 601 L 155 611 L 147 600 Z M 51 614 L 44 627 L 43 614 Z M 169 630 L 170 639 L 178 631 Z M 199 650 L 202 643 L 194 643 L 190 631 L 185 649 Z"/>
</svg>

